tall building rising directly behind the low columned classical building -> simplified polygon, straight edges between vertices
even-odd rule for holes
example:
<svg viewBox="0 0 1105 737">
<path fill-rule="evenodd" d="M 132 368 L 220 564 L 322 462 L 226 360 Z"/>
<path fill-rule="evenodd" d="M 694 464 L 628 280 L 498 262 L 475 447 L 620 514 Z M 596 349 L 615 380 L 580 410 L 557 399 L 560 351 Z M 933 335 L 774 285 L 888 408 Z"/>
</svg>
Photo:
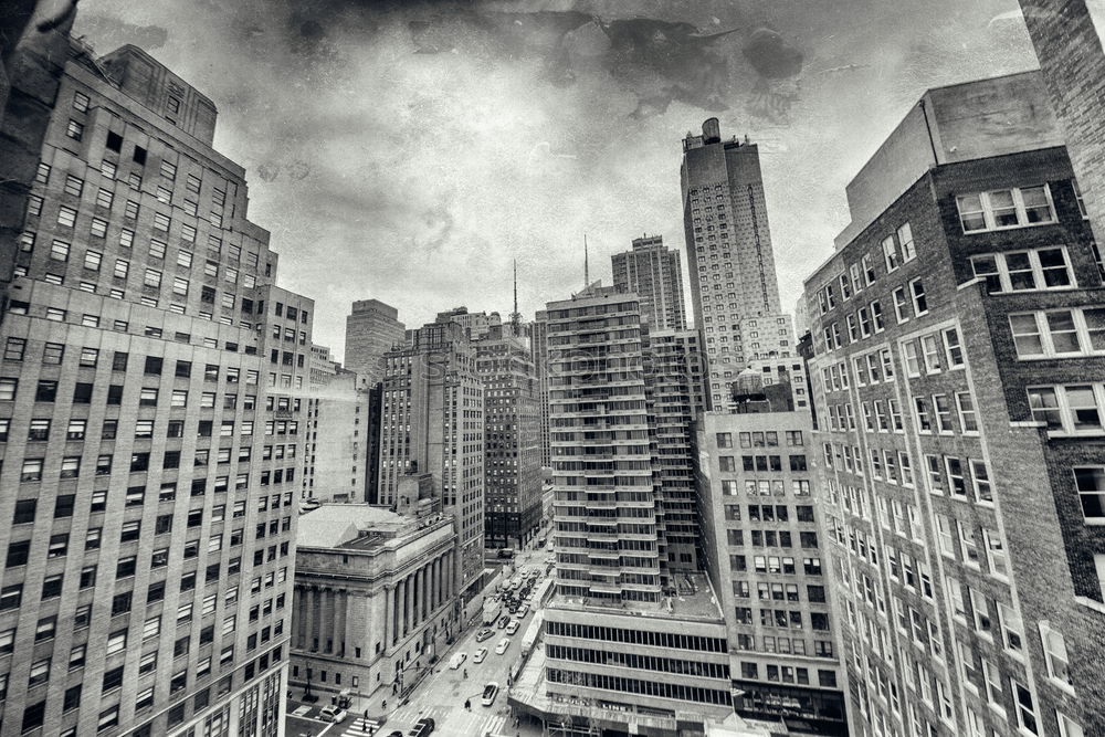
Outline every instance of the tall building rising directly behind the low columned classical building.
<svg viewBox="0 0 1105 737">
<path fill-rule="evenodd" d="M 484 388 L 476 352 L 456 323 L 408 330 L 383 356 L 378 504 L 396 506 L 404 480 L 431 474 L 457 531 L 457 581 L 465 599 L 483 572 Z"/>
</svg>

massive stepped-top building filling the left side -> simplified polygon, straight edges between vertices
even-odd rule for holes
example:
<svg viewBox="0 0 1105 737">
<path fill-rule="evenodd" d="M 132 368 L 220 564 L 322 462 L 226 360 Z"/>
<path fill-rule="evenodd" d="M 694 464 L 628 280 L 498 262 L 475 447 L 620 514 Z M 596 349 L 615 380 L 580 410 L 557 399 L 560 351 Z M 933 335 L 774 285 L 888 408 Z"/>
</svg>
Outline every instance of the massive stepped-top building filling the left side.
<svg viewBox="0 0 1105 737">
<path fill-rule="evenodd" d="M 3 257 L 0 735 L 277 735 L 313 305 L 213 103 L 70 52 Z"/>
</svg>

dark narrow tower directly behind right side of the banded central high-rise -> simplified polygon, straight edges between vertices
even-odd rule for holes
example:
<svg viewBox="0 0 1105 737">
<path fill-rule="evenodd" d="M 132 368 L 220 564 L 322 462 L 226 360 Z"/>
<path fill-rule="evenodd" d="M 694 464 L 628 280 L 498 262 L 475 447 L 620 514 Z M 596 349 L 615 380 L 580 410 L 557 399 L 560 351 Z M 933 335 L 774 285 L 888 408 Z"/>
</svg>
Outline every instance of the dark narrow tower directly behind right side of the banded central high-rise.
<svg viewBox="0 0 1105 737">
<path fill-rule="evenodd" d="M 663 491 L 663 526 L 672 570 L 701 570 L 692 440 L 703 411 L 703 356 L 696 330 L 650 330 L 653 433 Z"/>
</svg>

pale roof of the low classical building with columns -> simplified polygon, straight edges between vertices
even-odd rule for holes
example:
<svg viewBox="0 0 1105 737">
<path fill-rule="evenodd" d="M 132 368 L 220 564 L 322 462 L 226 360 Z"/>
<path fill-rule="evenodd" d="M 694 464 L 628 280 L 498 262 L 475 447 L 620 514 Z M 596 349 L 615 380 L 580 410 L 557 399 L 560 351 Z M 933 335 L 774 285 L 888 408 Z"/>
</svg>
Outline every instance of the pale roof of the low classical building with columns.
<svg viewBox="0 0 1105 737">
<path fill-rule="evenodd" d="M 324 504 L 299 517 L 298 547 L 368 549 L 418 529 L 418 519 L 370 504 Z"/>
</svg>

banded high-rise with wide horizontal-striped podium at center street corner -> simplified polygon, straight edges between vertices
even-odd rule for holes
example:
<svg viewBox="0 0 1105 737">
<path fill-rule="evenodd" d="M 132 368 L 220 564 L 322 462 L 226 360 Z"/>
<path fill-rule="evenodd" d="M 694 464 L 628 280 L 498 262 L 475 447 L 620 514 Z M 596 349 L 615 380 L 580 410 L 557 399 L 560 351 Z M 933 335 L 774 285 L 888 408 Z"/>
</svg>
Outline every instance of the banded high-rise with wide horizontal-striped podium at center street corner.
<svg viewBox="0 0 1105 737">
<path fill-rule="evenodd" d="M 596 283 L 547 315 L 557 578 L 511 703 L 578 735 L 735 719 L 709 581 L 669 573 L 640 302 Z"/>
</svg>

